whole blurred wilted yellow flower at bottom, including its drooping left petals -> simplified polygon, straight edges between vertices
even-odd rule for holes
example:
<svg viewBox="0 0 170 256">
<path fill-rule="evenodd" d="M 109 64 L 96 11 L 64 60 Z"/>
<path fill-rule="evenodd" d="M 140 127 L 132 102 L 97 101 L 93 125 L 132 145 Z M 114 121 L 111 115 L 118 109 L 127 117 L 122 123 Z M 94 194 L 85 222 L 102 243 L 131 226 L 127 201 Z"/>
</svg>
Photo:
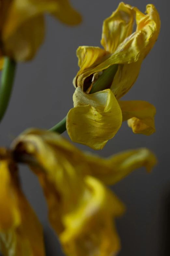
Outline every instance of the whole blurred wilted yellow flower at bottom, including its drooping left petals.
<svg viewBox="0 0 170 256">
<path fill-rule="evenodd" d="M 15 161 L 13 160 L 15 159 Z M 44 255 L 42 228 L 21 192 L 16 162 L 38 177 L 49 220 L 68 256 L 108 256 L 120 250 L 114 219 L 125 207 L 106 185 L 135 169 L 151 171 L 154 154 L 146 148 L 107 159 L 83 153 L 59 134 L 29 129 L 0 150 L 0 248 L 4 256 Z"/>
</svg>

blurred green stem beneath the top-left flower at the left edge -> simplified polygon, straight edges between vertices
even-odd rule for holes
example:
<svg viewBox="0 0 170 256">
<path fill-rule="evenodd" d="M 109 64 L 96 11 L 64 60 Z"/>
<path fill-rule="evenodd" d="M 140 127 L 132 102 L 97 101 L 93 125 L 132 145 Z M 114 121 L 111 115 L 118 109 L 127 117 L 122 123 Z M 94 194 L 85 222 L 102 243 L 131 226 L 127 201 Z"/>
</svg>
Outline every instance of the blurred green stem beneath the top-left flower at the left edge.
<svg viewBox="0 0 170 256">
<path fill-rule="evenodd" d="M 15 77 L 15 70 L 16 62 L 6 57 L 0 82 L 0 122 L 2 121 L 8 107 Z"/>
</svg>

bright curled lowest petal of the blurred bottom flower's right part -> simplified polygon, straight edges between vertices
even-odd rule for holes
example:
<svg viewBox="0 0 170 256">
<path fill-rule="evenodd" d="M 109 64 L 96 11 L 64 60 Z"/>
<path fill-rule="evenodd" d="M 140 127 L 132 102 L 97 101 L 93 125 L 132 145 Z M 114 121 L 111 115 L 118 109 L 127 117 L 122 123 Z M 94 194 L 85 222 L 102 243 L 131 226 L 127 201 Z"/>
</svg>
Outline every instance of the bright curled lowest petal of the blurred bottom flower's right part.
<svg viewBox="0 0 170 256">
<path fill-rule="evenodd" d="M 124 205 L 99 181 L 87 176 L 86 198 L 65 216 L 67 229 L 60 240 L 67 255 L 107 256 L 120 250 L 114 217 L 124 212 Z"/>
</svg>

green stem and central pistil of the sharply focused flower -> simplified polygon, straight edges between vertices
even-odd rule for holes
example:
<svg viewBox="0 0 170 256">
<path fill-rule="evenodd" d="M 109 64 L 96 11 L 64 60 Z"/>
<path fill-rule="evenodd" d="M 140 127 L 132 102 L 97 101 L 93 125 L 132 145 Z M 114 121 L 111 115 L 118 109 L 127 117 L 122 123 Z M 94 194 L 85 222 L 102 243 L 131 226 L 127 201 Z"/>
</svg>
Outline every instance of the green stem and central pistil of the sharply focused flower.
<svg viewBox="0 0 170 256">
<path fill-rule="evenodd" d="M 112 65 L 103 70 L 101 76 L 99 76 L 96 82 L 93 84 L 90 94 L 105 90 L 108 85 L 113 81 L 114 76 L 118 70 L 118 64 Z M 66 130 L 66 116 L 57 125 L 50 128 L 50 131 L 63 133 Z"/>
</svg>

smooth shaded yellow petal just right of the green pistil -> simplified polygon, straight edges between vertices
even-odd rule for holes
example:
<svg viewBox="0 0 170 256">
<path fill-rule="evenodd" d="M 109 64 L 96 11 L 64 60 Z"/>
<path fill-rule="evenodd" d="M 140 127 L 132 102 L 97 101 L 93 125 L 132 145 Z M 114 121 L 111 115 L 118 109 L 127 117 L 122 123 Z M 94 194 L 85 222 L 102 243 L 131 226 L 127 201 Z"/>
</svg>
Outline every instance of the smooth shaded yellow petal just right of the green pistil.
<svg viewBox="0 0 170 256">
<path fill-rule="evenodd" d="M 135 63 L 120 64 L 118 66 L 118 71 L 110 87 L 116 99 L 120 99 L 134 85 L 139 75 L 141 64 L 142 60 L 138 60 Z"/>
</svg>

